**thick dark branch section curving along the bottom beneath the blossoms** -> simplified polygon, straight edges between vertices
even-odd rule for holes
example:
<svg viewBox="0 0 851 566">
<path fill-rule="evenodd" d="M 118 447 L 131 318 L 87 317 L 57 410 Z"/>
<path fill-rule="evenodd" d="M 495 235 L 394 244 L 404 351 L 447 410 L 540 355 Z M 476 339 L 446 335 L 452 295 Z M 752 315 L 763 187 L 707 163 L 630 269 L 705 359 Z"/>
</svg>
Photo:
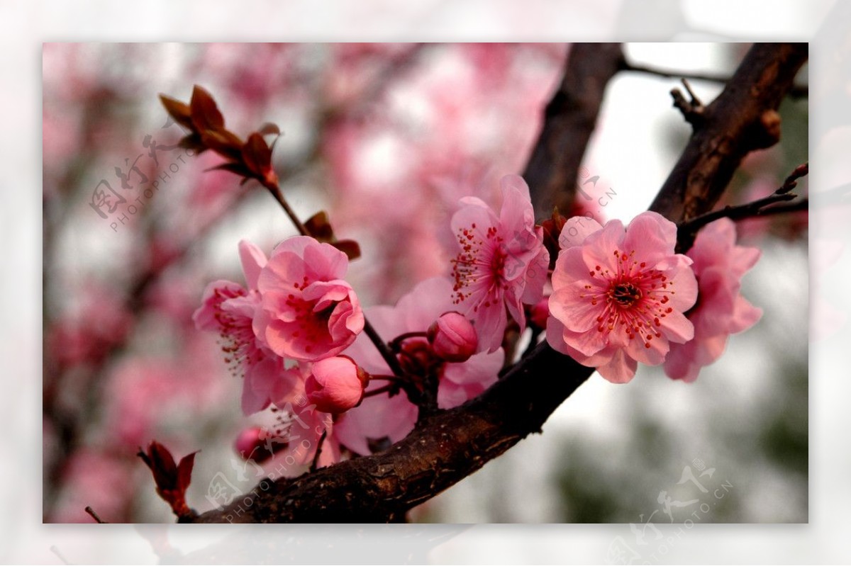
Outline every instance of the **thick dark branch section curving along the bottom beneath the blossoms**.
<svg viewBox="0 0 851 566">
<path fill-rule="evenodd" d="M 557 375 L 553 368 L 559 368 Z M 420 422 L 389 450 L 263 484 L 200 523 L 390 522 L 540 427 L 591 368 L 545 342 L 477 399 Z"/>
</svg>

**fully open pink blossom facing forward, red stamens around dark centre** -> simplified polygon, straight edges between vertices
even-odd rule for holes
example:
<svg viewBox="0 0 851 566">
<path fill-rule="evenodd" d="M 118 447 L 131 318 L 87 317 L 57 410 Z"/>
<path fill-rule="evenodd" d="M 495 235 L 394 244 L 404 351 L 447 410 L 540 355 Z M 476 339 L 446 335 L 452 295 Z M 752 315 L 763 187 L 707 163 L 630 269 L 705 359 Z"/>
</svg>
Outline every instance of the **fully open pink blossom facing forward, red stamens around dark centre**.
<svg viewBox="0 0 851 566">
<path fill-rule="evenodd" d="M 585 224 L 594 222 L 582 218 Z M 576 218 L 563 234 L 573 234 Z M 674 253 L 677 226 L 643 212 L 624 229 L 611 220 L 558 254 L 546 338 L 552 348 L 625 383 L 637 362 L 659 365 L 670 342 L 688 342 L 694 327 L 684 312 L 694 305 L 691 259 Z"/>
</svg>

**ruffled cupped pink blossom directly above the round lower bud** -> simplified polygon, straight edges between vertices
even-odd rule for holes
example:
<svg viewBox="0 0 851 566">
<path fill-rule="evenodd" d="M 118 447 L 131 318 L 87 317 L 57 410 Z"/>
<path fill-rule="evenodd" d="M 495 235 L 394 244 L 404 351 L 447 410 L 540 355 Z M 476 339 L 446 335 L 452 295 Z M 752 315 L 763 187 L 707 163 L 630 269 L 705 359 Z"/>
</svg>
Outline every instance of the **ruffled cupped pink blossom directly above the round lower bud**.
<svg viewBox="0 0 851 566">
<path fill-rule="evenodd" d="M 363 330 L 357 295 L 342 279 L 348 263 L 345 253 L 308 236 L 281 242 L 257 279 L 257 336 L 275 354 L 302 361 L 348 348 Z"/>
</svg>

